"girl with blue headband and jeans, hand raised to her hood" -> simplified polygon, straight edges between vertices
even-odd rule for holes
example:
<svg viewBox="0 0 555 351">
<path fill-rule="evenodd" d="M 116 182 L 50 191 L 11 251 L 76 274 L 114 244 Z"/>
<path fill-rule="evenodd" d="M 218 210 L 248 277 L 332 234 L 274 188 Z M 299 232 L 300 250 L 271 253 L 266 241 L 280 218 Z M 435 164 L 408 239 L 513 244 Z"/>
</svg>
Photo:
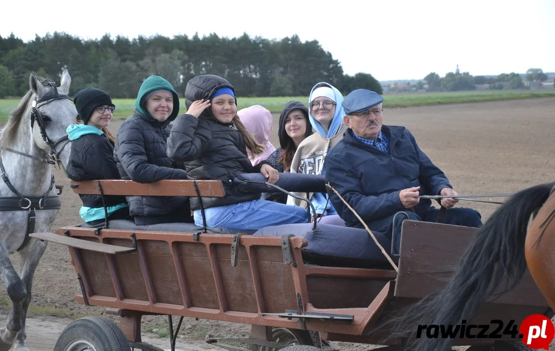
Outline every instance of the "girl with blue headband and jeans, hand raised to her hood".
<svg viewBox="0 0 555 351">
<path fill-rule="evenodd" d="M 233 230 L 258 230 L 289 223 L 307 223 L 307 211 L 261 200 L 260 194 L 242 192 L 234 177 L 261 172 L 271 184 L 279 172 L 261 161 L 253 166 L 246 147 L 260 154 L 264 147 L 241 123 L 237 115 L 235 90 L 217 75 L 199 75 L 185 88 L 188 110 L 178 116 L 168 138 L 168 156 L 183 161 L 189 179 L 221 180 L 224 197 L 203 197 L 206 226 Z M 203 226 L 200 202 L 191 197 L 191 210 L 197 226 Z"/>
</svg>

